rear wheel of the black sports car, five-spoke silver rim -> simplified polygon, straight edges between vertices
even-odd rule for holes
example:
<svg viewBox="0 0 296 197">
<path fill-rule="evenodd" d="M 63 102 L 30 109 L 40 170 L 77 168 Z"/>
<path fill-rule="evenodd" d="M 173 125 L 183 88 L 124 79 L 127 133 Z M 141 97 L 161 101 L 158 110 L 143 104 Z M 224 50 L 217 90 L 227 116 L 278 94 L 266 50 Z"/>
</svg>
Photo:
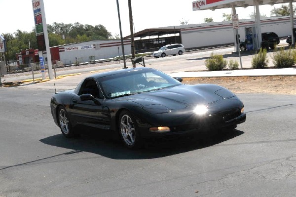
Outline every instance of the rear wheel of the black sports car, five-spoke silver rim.
<svg viewBox="0 0 296 197">
<path fill-rule="evenodd" d="M 65 137 L 74 137 L 74 128 L 71 125 L 68 113 L 64 107 L 60 107 L 58 111 L 58 122 L 61 128 L 62 134 Z"/>
</svg>

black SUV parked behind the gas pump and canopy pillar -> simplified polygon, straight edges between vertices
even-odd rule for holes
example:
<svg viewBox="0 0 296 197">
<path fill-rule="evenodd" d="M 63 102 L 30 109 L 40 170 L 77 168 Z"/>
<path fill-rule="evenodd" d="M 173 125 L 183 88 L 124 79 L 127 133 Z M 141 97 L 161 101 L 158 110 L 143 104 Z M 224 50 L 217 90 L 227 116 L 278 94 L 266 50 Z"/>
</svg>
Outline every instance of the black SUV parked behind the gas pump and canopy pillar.
<svg viewBox="0 0 296 197">
<path fill-rule="evenodd" d="M 275 46 L 280 43 L 280 39 L 279 39 L 278 35 L 274 32 L 262 33 L 261 36 L 262 36 L 261 47 L 263 47 L 263 48 L 274 49 Z M 240 43 L 240 49 L 241 49 L 241 51 L 244 51 L 247 49 L 246 40 L 242 41 Z"/>
</svg>

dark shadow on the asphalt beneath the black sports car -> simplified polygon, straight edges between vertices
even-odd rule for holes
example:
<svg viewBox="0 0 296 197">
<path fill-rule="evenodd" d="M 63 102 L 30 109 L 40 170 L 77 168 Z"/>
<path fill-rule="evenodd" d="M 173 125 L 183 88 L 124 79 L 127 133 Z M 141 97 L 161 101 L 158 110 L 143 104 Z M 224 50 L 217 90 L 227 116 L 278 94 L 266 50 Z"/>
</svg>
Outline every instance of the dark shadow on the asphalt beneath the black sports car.
<svg viewBox="0 0 296 197">
<path fill-rule="evenodd" d="M 219 134 L 199 133 L 198 135 L 182 137 L 153 138 L 146 140 L 144 147 L 138 150 L 129 150 L 119 140 L 94 132 L 75 138 L 65 138 L 62 134 L 58 134 L 39 141 L 51 146 L 71 149 L 74 152 L 89 152 L 112 159 L 147 159 L 203 149 L 220 144 L 243 133 L 243 131 L 234 129 Z"/>
</svg>

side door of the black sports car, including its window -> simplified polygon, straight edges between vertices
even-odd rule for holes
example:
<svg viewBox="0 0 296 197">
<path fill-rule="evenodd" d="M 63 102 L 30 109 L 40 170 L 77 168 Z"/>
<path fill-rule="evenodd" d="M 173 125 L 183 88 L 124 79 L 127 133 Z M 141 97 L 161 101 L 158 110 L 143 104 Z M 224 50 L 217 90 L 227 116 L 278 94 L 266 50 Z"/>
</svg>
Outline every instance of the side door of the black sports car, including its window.
<svg viewBox="0 0 296 197">
<path fill-rule="evenodd" d="M 92 95 L 93 99 L 85 100 Z M 71 100 L 71 116 L 78 124 L 102 128 L 102 92 L 94 79 L 85 79 L 80 90 Z"/>
</svg>

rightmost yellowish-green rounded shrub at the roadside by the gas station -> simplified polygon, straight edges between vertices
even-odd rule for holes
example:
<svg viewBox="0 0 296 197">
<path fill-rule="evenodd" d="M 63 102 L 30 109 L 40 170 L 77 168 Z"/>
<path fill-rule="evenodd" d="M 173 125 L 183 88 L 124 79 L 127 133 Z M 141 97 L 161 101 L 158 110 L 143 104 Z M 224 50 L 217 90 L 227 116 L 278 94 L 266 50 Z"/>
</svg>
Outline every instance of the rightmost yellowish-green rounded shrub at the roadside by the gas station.
<svg viewBox="0 0 296 197">
<path fill-rule="evenodd" d="M 284 50 L 284 48 L 280 48 L 280 50 L 276 50 L 272 55 L 272 62 L 276 68 L 288 68 L 294 65 L 295 52 L 292 49 Z"/>
</svg>

